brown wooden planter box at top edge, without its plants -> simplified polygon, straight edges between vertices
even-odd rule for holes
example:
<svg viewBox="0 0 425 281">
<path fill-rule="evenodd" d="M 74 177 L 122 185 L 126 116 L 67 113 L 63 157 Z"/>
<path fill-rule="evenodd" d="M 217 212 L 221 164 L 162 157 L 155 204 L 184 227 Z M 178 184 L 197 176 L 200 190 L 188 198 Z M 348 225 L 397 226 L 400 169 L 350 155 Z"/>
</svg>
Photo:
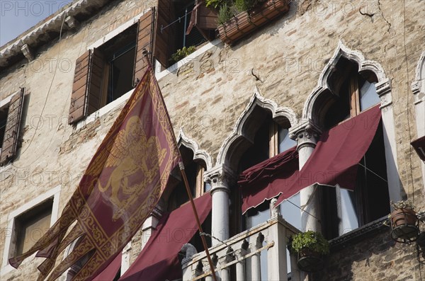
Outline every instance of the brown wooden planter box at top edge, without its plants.
<svg viewBox="0 0 425 281">
<path fill-rule="evenodd" d="M 256 30 L 274 18 L 289 11 L 287 0 L 266 0 L 234 16 L 230 21 L 217 27 L 220 40 L 231 45 L 233 42 Z"/>
</svg>

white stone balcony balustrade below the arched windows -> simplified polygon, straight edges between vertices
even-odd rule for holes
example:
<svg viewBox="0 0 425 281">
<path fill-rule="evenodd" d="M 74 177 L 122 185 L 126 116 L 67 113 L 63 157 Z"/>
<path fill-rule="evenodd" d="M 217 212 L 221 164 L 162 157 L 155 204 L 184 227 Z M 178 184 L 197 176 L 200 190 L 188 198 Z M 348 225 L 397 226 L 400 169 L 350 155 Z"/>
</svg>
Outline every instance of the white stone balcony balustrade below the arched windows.
<svg viewBox="0 0 425 281">
<path fill-rule="evenodd" d="M 267 222 L 248 229 L 222 244 L 210 248 L 212 263 L 215 265 L 217 280 L 227 281 L 236 278 L 238 281 L 261 280 L 261 265 L 267 269 L 266 280 L 288 280 L 290 264 L 290 280 L 300 280 L 300 270 L 297 268 L 297 257 L 290 255 L 287 259 L 287 243 L 290 236 L 300 232 L 295 226 L 288 224 L 276 215 Z M 186 248 L 185 248 L 186 247 Z M 188 247 L 186 258 L 182 261 L 183 281 L 212 281 L 212 273 L 205 251 L 191 256 Z M 191 249 L 192 251 L 194 248 Z M 195 252 L 193 252 L 195 253 Z M 289 263 L 290 262 L 290 263 Z M 263 275 L 265 274 L 263 269 Z"/>
</svg>

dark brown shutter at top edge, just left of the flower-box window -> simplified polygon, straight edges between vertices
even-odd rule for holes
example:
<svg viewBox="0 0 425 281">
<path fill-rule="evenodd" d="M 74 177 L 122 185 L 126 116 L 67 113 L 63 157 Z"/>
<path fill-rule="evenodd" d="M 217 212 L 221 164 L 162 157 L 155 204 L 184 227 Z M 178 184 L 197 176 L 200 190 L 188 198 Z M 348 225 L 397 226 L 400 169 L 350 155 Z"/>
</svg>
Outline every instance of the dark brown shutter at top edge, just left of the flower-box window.
<svg viewBox="0 0 425 281">
<path fill-rule="evenodd" d="M 169 64 L 169 57 L 174 51 L 174 21 L 173 1 L 158 0 L 157 24 L 155 27 L 154 57 L 163 67 Z M 169 26 L 167 26 L 169 25 Z M 163 28 L 163 29 L 162 29 Z"/>
</svg>

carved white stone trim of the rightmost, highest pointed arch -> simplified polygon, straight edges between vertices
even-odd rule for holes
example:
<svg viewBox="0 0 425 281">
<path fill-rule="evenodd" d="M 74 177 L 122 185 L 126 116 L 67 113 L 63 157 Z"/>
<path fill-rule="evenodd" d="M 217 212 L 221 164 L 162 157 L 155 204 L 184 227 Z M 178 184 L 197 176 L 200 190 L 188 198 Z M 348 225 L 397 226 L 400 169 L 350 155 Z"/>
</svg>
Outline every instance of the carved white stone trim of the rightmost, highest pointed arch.
<svg viewBox="0 0 425 281">
<path fill-rule="evenodd" d="M 390 80 L 387 79 L 382 66 L 378 62 L 365 59 L 361 52 L 351 50 L 346 47 L 341 40 L 339 40 L 338 47 L 336 47 L 334 55 L 332 55 L 331 59 L 329 59 L 329 62 L 319 76 L 317 86 L 313 89 L 312 93 L 310 93 L 307 101 L 305 101 L 304 108 L 302 110 L 303 120 L 318 120 L 319 116 L 315 111 L 316 108 L 326 108 L 328 101 L 331 99 L 331 95 L 335 94 L 332 92 L 329 80 L 331 75 L 336 71 L 336 64 L 342 58 L 355 62 L 358 65 L 358 73 L 360 74 L 366 72 L 373 73 L 377 80 L 376 90 L 381 98 L 381 105 L 383 106 L 391 103 L 391 97 L 385 95 L 390 91 Z"/>
</svg>

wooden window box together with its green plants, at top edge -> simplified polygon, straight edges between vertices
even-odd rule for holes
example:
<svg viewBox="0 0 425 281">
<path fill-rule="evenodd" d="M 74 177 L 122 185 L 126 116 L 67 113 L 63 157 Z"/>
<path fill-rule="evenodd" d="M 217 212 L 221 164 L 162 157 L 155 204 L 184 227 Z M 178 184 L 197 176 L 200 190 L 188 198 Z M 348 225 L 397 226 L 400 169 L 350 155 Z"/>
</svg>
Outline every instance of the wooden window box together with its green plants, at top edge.
<svg viewBox="0 0 425 281">
<path fill-rule="evenodd" d="M 289 11 L 288 0 L 206 0 L 206 6 L 218 10 L 217 29 L 227 44 Z"/>
</svg>

